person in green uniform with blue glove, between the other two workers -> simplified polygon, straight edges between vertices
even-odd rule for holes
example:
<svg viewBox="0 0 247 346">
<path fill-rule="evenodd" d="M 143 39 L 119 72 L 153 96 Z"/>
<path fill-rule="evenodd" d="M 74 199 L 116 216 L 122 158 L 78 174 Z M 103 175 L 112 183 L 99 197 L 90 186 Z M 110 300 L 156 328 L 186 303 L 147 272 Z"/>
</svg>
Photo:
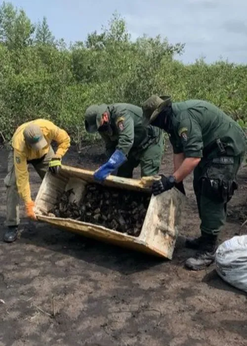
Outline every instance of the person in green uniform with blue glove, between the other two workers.
<svg viewBox="0 0 247 346">
<path fill-rule="evenodd" d="M 132 104 L 91 105 L 85 112 L 85 129 L 98 131 L 105 142 L 108 161 L 95 173 L 103 181 L 109 174 L 132 178 L 140 164 L 141 176 L 159 172 L 164 151 L 162 130 L 142 125 L 142 109 Z"/>
</svg>

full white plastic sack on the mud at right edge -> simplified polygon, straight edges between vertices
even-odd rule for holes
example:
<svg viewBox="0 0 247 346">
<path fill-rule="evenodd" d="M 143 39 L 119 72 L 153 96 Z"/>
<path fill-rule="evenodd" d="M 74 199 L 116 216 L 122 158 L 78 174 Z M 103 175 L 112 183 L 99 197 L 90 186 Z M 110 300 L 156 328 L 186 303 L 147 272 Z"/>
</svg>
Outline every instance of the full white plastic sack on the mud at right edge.
<svg viewBox="0 0 247 346">
<path fill-rule="evenodd" d="M 215 254 L 216 271 L 230 285 L 247 292 L 247 235 L 222 243 Z"/>
</svg>

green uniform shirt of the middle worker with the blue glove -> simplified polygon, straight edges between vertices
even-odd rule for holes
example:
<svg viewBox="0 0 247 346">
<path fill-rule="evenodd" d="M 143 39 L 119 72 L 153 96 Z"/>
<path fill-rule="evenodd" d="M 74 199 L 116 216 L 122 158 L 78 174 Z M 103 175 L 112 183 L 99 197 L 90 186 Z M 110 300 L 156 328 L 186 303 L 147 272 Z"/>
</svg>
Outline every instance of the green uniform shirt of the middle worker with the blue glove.
<svg viewBox="0 0 247 346">
<path fill-rule="evenodd" d="M 129 151 L 144 150 L 152 143 L 158 143 L 162 130 L 153 126 L 142 126 L 142 109 L 132 104 L 115 103 L 108 106 L 112 133 L 100 132 L 105 141 L 107 154 L 115 149 L 122 150 L 125 155 Z"/>
</svg>

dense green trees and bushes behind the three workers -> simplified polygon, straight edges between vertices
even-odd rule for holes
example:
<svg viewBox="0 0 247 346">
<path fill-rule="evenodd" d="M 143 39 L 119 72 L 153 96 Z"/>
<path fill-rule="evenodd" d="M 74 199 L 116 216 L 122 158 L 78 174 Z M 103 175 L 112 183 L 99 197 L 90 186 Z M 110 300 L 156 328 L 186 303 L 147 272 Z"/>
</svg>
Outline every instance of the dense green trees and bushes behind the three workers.
<svg viewBox="0 0 247 346">
<path fill-rule="evenodd" d="M 152 93 L 174 101 L 206 99 L 247 129 L 247 66 L 203 59 L 175 60 L 184 44 L 160 36 L 136 41 L 115 12 L 100 33 L 67 46 L 55 40 L 47 20 L 33 24 L 11 3 L 0 6 L 0 131 L 7 140 L 31 119 L 46 118 L 69 132 L 79 147 L 93 140 L 84 112 L 93 103 L 136 105 Z"/>
</svg>

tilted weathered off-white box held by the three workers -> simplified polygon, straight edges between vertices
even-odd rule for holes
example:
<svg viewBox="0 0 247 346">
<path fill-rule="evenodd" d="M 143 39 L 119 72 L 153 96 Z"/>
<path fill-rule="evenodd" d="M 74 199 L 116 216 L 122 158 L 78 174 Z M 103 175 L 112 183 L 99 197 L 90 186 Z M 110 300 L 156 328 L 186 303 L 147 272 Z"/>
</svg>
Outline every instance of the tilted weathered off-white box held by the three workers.
<svg viewBox="0 0 247 346">
<path fill-rule="evenodd" d="M 110 175 L 103 185 L 151 194 L 151 185 L 155 178 L 128 179 Z M 47 216 L 59 195 L 68 188 L 74 187 L 83 202 L 83 191 L 85 192 L 88 183 L 95 183 L 93 171 L 63 165 L 59 175 L 54 176 L 47 172 L 35 200 L 38 219 L 82 236 L 172 259 L 185 201 L 185 196 L 180 191 L 173 188 L 158 196 L 152 195 L 138 237 L 92 223 Z"/>
</svg>

